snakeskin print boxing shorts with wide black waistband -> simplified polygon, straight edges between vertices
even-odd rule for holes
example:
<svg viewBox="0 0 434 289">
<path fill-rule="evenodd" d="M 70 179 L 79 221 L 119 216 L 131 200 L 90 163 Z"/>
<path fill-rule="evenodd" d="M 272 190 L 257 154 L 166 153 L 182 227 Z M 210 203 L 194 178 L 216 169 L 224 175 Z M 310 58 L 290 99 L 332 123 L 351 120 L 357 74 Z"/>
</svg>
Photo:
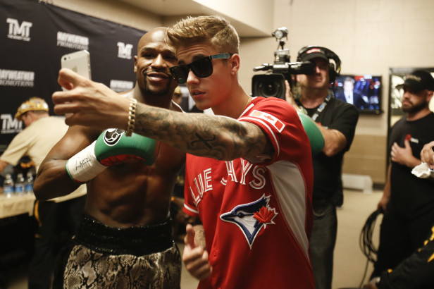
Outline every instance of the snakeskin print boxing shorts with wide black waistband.
<svg viewBox="0 0 434 289">
<path fill-rule="evenodd" d="M 53 288 L 180 288 L 181 257 L 170 222 L 118 229 L 83 218 Z"/>
</svg>

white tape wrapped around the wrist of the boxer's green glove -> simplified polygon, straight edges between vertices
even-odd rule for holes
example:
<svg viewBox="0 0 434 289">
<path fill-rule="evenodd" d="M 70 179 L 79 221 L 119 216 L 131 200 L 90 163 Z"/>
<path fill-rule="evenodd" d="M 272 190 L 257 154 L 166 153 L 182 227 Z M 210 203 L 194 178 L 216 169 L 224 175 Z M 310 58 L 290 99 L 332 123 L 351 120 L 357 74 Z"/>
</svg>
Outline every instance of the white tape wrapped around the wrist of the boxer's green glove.
<svg viewBox="0 0 434 289">
<path fill-rule="evenodd" d="M 86 183 L 107 168 L 100 164 L 95 156 L 95 143 L 96 141 L 92 142 L 66 162 L 66 172 L 77 183 Z"/>
</svg>

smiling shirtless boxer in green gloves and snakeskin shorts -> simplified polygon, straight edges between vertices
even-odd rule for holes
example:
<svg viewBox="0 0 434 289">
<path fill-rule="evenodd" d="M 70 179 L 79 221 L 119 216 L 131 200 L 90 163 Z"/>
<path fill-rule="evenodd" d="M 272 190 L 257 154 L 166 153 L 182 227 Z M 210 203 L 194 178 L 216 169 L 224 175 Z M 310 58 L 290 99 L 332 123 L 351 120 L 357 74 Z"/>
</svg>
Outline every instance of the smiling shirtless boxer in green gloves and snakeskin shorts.
<svg viewBox="0 0 434 289">
<path fill-rule="evenodd" d="M 165 34 L 166 28 L 158 27 L 140 39 L 134 59 L 137 83 L 123 96 L 181 111 L 171 100 L 178 83 L 169 68 L 177 59 Z M 142 156 L 125 156 L 135 152 L 118 149 L 108 157 L 111 147 L 103 138 L 109 136 L 120 136 L 125 147 L 147 148 Z M 90 172 L 75 171 L 74 161 L 93 153 L 98 161 L 88 167 Z M 169 205 L 184 162 L 184 152 L 147 137 L 71 126 L 46 156 L 35 180 L 38 199 L 68 195 L 87 183 L 85 214 L 59 258 L 54 288 L 179 288 L 181 259 L 171 235 Z"/>
</svg>

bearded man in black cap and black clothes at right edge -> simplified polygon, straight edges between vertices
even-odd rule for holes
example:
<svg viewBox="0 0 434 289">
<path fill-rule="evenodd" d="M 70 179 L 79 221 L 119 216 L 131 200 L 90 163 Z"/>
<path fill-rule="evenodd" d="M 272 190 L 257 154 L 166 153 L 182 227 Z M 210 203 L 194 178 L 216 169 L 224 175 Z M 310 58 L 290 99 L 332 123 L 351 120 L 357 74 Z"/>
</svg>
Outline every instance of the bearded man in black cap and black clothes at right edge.
<svg viewBox="0 0 434 289">
<path fill-rule="evenodd" d="M 414 166 L 421 164 L 423 145 L 434 140 L 434 113 L 428 107 L 434 78 L 424 70 L 416 70 L 397 88 L 404 89 L 402 110 L 406 115 L 390 131 L 391 162 L 383 197 L 378 202 L 384 216 L 372 278 L 394 269 L 422 247 L 434 223 L 434 182 L 411 173 Z"/>
</svg>

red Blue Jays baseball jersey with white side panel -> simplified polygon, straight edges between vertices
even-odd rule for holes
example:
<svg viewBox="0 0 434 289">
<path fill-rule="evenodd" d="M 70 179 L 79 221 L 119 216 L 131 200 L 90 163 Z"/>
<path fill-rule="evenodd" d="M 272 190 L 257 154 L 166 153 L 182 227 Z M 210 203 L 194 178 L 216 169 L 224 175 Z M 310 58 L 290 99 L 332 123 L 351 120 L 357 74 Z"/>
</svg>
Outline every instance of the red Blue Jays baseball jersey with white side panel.
<svg viewBox="0 0 434 289">
<path fill-rule="evenodd" d="M 258 125 L 274 154 L 255 164 L 187 154 L 183 211 L 201 219 L 213 266 L 199 288 L 314 288 L 314 173 L 297 112 L 282 99 L 256 97 L 237 121 Z"/>
</svg>

